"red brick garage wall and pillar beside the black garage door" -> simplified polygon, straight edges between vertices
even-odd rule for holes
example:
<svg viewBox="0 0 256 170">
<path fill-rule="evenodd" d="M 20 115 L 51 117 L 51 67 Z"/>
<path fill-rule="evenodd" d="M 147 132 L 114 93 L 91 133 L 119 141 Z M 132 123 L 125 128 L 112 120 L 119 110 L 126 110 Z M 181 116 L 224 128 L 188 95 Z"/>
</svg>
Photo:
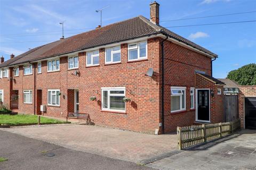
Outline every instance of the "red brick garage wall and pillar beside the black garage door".
<svg viewBox="0 0 256 170">
<path fill-rule="evenodd" d="M 245 128 L 244 98 L 256 97 L 256 86 L 239 86 L 238 93 L 238 115 L 241 120 L 241 128 Z"/>
</svg>

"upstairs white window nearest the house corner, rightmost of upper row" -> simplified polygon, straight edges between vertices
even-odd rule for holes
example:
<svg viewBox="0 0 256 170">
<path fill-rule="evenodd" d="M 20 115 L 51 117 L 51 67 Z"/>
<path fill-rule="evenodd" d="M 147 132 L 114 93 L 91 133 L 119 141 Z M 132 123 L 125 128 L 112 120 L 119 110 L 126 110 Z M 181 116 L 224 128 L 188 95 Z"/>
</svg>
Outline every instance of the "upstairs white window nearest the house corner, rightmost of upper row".
<svg viewBox="0 0 256 170">
<path fill-rule="evenodd" d="M 147 41 L 128 45 L 128 61 L 142 60 L 147 58 Z"/>
</svg>

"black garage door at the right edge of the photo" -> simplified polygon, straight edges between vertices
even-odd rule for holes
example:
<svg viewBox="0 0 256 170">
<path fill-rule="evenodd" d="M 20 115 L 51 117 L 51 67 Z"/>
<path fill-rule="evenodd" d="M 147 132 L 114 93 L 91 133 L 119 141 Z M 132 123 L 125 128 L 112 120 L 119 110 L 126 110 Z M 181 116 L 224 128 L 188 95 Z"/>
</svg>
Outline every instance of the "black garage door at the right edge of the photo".
<svg viewBox="0 0 256 170">
<path fill-rule="evenodd" d="M 256 98 L 245 98 L 245 128 L 256 129 Z"/>
</svg>

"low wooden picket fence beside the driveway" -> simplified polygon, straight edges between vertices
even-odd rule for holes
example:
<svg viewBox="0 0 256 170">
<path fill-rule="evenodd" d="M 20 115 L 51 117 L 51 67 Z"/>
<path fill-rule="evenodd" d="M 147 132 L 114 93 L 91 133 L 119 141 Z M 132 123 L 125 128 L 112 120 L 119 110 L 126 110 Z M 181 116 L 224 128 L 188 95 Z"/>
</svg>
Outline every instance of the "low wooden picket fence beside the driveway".
<svg viewBox="0 0 256 170">
<path fill-rule="evenodd" d="M 225 123 L 177 127 L 178 148 L 183 149 L 221 138 L 240 128 L 240 120 Z"/>
</svg>

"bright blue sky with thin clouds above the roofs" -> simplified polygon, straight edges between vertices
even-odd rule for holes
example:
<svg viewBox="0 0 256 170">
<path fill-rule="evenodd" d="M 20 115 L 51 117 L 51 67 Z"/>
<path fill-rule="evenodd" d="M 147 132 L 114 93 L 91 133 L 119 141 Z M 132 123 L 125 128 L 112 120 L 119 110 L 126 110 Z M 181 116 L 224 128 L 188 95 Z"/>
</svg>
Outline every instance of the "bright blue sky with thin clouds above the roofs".
<svg viewBox="0 0 256 170">
<path fill-rule="evenodd" d="M 143 15 L 149 18 L 151 0 L 85 1 L 85 0 L 0 0 L 0 55 L 26 52 L 29 48 L 50 43 L 61 37 L 65 21 L 65 37 L 85 32 L 102 24 Z M 183 0 L 157 1 L 160 21 L 256 11 L 254 0 Z M 256 13 L 228 15 L 215 18 L 161 22 L 164 27 L 204 23 L 256 20 Z M 188 38 L 219 55 L 213 64 L 213 76 L 225 78 L 227 72 L 256 63 L 256 22 L 178 27 L 170 30 Z"/>
</svg>

